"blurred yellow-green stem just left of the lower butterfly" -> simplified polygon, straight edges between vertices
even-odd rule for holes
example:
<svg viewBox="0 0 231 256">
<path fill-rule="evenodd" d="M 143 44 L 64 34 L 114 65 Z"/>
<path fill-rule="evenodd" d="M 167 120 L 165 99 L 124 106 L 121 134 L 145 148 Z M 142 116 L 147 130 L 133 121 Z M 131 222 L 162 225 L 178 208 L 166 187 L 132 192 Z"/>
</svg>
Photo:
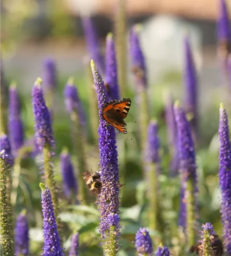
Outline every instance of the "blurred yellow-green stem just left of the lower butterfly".
<svg viewBox="0 0 231 256">
<path fill-rule="evenodd" d="M 78 165 L 78 182 L 79 182 L 79 200 L 83 201 L 83 204 L 86 203 L 86 184 L 82 178 L 82 173 L 87 171 L 87 162 L 86 162 L 86 131 L 82 127 L 78 114 L 73 112 L 71 114 L 72 120 L 72 136 L 74 149 L 77 157 Z"/>
</svg>

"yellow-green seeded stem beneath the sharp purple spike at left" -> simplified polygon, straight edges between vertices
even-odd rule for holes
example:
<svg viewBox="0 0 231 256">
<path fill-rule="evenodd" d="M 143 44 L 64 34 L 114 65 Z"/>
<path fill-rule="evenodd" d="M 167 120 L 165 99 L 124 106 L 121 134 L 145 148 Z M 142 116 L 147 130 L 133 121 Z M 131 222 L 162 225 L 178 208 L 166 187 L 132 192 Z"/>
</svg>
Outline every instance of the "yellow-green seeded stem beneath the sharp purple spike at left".
<svg viewBox="0 0 231 256">
<path fill-rule="evenodd" d="M 49 187 L 51 191 L 52 201 L 54 205 L 55 219 L 58 226 L 59 233 L 62 231 L 60 219 L 58 218 L 60 207 L 57 195 L 57 185 L 54 179 L 54 169 L 52 162 L 52 154 L 50 144 L 47 142 L 43 147 L 43 158 L 44 158 L 44 180 L 45 185 Z"/>
</svg>

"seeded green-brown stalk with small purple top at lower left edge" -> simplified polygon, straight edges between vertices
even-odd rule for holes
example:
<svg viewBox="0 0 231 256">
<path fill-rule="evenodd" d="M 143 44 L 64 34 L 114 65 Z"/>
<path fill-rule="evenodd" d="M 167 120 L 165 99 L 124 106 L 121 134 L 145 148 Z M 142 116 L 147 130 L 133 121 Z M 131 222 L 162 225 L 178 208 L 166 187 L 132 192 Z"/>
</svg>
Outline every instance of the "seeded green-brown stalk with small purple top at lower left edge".
<svg viewBox="0 0 231 256">
<path fill-rule="evenodd" d="M 9 193 L 7 176 L 10 172 L 12 156 L 5 150 L 0 152 L 0 252 L 2 255 L 14 255 L 12 219 L 10 214 Z"/>
</svg>

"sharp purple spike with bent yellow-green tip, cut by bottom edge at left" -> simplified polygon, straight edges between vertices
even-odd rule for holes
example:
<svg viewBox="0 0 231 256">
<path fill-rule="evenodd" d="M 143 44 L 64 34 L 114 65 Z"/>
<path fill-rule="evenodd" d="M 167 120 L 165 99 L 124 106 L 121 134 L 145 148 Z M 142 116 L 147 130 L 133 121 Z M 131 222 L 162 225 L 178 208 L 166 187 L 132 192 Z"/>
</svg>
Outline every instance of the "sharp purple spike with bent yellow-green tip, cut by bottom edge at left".
<svg viewBox="0 0 231 256">
<path fill-rule="evenodd" d="M 61 247 L 61 239 L 57 230 L 50 189 L 43 183 L 40 183 L 39 186 L 42 190 L 41 197 L 44 235 L 43 253 L 41 255 L 64 256 L 63 249 Z"/>
</svg>

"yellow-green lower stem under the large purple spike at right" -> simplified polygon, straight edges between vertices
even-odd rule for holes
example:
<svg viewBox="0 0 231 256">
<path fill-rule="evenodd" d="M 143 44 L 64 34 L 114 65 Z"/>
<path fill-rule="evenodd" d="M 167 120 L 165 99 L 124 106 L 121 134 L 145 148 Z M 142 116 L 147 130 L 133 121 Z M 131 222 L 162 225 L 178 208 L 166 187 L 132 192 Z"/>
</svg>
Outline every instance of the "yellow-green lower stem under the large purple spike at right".
<svg viewBox="0 0 231 256">
<path fill-rule="evenodd" d="M 194 194 L 194 180 L 193 178 L 189 178 L 186 181 L 186 211 L 187 211 L 187 226 L 186 226 L 186 234 L 187 234 L 187 243 L 188 247 L 195 244 L 195 194 Z"/>
</svg>

